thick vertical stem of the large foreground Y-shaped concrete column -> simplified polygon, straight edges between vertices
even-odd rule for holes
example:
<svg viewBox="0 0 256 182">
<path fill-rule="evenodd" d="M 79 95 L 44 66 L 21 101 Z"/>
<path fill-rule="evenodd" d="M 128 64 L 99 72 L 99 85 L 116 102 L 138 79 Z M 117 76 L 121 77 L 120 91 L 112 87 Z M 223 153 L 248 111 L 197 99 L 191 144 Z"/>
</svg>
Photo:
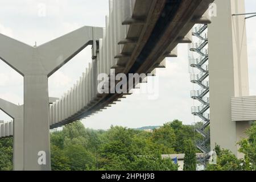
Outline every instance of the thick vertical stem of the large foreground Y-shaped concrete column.
<svg viewBox="0 0 256 182">
<path fill-rule="evenodd" d="M 51 170 L 47 75 L 24 76 L 24 121 L 24 170 Z"/>
</svg>

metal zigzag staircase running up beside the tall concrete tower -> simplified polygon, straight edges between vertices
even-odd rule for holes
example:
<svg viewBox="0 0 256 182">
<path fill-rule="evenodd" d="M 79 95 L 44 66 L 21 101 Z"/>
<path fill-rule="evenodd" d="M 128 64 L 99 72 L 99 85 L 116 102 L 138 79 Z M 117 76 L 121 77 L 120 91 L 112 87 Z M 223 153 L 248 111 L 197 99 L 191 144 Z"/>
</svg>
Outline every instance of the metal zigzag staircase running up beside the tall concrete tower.
<svg viewBox="0 0 256 182">
<path fill-rule="evenodd" d="M 204 152 L 203 158 L 198 158 L 199 164 L 205 164 L 210 151 L 210 133 L 207 127 L 210 125 L 210 115 L 208 113 L 209 104 L 209 68 L 208 68 L 208 36 L 207 24 L 196 24 L 192 28 L 192 35 L 195 42 L 189 44 L 189 66 L 192 68 L 191 82 L 196 84 L 198 90 L 191 91 L 191 98 L 199 101 L 200 106 L 192 106 L 191 113 L 202 119 L 203 125 L 196 126 L 195 132 L 199 133 L 203 139 L 195 140 L 195 146 Z M 195 58 L 196 57 L 196 58 Z"/>
</svg>

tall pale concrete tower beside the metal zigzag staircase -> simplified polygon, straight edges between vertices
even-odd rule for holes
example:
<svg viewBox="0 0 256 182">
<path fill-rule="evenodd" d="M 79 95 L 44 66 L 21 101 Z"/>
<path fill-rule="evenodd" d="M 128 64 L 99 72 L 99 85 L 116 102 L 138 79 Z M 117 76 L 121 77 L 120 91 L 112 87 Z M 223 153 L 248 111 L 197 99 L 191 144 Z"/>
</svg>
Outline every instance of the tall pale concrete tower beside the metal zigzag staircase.
<svg viewBox="0 0 256 182">
<path fill-rule="evenodd" d="M 249 96 L 247 39 L 244 0 L 216 0 L 217 16 L 208 28 L 210 84 L 210 142 L 231 150 L 245 137 L 249 121 L 232 122 L 231 98 Z"/>
</svg>

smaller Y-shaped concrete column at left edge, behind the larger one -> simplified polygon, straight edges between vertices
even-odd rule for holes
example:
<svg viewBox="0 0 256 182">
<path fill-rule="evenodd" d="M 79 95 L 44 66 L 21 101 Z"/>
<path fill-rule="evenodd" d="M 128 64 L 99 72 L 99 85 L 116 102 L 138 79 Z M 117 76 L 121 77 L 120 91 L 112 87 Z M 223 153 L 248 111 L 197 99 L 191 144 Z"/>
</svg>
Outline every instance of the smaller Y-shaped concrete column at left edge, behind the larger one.
<svg viewBox="0 0 256 182">
<path fill-rule="evenodd" d="M 0 109 L 13 118 L 13 169 L 23 170 L 23 105 L 18 106 L 0 98 Z"/>
</svg>

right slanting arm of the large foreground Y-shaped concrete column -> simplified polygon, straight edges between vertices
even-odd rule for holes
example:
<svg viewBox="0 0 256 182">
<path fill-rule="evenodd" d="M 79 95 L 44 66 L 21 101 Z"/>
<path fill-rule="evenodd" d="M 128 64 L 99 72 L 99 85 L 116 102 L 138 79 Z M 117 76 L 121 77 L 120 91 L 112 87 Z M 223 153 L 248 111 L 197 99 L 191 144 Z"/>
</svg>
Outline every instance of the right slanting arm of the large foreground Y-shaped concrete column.
<svg viewBox="0 0 256 182">
<path fill-rule="evenodd" d="M 82 49 L 88 45 L 94 46 L 93 40 L 98 40 L 101 37 L 102 28 L 84 26 L 36 47 L 38 54 L 42 56 L 42 64 L 47 70 L 48 77 L 81 52 Z"/>
</svg>

